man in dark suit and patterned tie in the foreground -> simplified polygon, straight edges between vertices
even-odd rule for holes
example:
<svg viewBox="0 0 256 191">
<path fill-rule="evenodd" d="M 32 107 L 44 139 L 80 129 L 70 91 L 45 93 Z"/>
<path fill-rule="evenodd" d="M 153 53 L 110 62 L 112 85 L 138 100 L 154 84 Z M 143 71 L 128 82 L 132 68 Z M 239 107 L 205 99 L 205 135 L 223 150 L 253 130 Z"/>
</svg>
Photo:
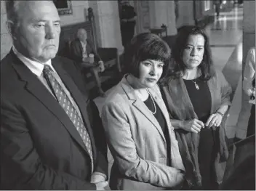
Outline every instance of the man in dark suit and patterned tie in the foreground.
<svg viewBox="0 0 256 191">
<path fill-rule="evenodd" d="M 13 46 L 1 60 L 1 190 L 104 190 L 107 146 L 71 60 L 55 57 L 52 1 L 7 1 Z"/>
</svg>

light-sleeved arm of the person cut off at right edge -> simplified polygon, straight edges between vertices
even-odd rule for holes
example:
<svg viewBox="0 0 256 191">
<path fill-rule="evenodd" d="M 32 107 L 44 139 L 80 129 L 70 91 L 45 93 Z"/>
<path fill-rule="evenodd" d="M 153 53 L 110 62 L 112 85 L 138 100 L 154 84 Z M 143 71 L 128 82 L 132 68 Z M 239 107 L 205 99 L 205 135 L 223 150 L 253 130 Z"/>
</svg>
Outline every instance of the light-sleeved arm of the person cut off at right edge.
<svg viewBox="0 0 256 191">
<path fill-rule="evenodd" d="M 244 67 L 244 81 L 243 89 L 244 92 L 251 96 L 253 93 L 252 79 L 255 76 L 255 49 L 250 49 L 247 54 L 247 60 Z"/>
</svg>

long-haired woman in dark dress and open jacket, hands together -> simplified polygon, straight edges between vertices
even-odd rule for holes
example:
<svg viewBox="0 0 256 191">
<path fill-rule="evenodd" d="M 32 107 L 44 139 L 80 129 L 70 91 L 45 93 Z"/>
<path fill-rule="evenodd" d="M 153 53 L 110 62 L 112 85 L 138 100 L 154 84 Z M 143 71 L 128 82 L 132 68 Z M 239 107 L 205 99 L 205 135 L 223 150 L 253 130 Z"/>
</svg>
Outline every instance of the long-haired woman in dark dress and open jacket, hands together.
<svg viewBox="0 0 256 191">
<path fill-rule="evenodd" d="M 223 118 L 231 105 L 231 86 L 213 67 L 204 30 L 180 28 L 161 91 L 175 128 L 188 188 L 217 190 L 228 158 Z"/>
</svg>

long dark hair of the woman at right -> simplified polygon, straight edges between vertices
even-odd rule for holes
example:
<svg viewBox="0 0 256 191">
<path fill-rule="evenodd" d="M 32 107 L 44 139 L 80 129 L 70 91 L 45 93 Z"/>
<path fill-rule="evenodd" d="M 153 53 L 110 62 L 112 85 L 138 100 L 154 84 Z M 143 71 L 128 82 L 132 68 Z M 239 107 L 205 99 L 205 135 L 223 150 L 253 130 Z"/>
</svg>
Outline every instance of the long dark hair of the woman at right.
<svg viewBox="0 0 256 191">
<path fill-rule="evenodd" d="M 185 73 L 186 65 L 183 62 L 183 51 L 188 43 L 188 38 L 191 35 L 198 35 L 204 37 L 204 56 L 199 69 L 201 70 L 202 81 L 208 81 L 214 76 L 215 71 L 212 62 L 212 52 L 209 46 L 209 37 L 204 29 L 194 25 L 184 25 L 177 31 L 177 38 L 172 46 L 172 57 L 170 60 L 167 78 L 180 78 Z"/>
</svg>

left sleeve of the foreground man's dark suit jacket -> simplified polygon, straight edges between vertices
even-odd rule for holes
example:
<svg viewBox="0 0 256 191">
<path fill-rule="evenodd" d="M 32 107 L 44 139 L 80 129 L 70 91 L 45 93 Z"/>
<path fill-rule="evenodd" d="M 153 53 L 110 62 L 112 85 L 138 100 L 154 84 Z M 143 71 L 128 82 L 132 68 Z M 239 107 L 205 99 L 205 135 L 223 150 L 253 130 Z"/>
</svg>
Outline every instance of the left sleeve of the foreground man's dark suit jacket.
<svg viewBox="0 0 256 191">
<path fill-rule="evenodd" d="M 96 190 L 95 184 L 47 166 L 30 134 L 25 116 L 1 99 L 1 189 Z"/>
</svg>

